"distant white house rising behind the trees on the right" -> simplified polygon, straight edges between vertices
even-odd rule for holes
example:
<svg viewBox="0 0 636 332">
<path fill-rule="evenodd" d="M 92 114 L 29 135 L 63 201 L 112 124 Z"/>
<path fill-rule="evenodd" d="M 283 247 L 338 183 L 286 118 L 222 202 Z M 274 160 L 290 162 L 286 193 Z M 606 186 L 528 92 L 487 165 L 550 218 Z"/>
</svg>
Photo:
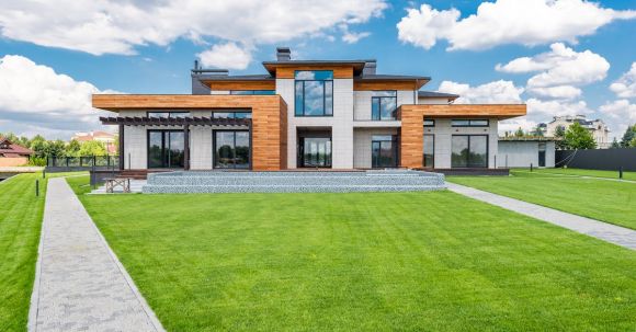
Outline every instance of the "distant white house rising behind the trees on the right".
<svg viewBox="0 0 636 332">
<path fill-rule="evenodd" d="M 556 129 L 563 127 L 567 130 L 573 123 L 579 123 L 583 128 L 588 129 L 597 141 L 597 148 L 609 149 L 612 142 L 610 141 L 610 129 L 602 119 L 587 119 L 584 115 L 566 115 L 555 116 L 554 119 L 547 124 L 540 124 L 538 129 L 544 136 L 554 137 Z"/>
</svg>

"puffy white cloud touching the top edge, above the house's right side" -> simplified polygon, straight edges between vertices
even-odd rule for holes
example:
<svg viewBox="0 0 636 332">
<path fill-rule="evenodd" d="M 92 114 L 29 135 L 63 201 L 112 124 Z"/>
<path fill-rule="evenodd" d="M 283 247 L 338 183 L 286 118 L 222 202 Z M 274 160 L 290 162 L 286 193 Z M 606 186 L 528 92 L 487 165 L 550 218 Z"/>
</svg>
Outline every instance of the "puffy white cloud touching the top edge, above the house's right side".
<svg viewBox="0 0 636 332">
<path fill-rule="evenodd" d="M 409 9 L 397 24 L 398 37 L 425 49 L 446 39 L 451 50 L 576 43 L 614 20 L 636 18 L 636 11 L 615 11 L 584 0 L 497 0 L 479 4 L 476 14 L 459 16 L 456 9 L 439 11 L 429 4 Z"/>
</svg>

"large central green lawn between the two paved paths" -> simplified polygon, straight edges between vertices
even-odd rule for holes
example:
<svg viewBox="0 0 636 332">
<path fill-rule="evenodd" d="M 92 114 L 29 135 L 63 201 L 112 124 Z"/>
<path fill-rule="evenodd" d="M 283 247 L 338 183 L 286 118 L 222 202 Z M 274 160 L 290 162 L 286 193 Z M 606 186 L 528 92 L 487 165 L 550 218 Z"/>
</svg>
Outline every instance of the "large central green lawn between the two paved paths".
<svg viewBox="0 0 636 332">
<path fill-rule="evenodd" d="M 169 331 L 636 324 L 634 251 L 451 192 L 80 199 Z"/>
</svg>

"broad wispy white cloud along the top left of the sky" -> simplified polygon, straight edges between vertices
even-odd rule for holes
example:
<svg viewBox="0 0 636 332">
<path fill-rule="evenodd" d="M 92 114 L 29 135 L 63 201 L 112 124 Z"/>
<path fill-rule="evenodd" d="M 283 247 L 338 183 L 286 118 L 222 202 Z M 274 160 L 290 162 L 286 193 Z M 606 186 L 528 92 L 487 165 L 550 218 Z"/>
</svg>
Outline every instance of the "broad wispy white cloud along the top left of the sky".
<svg viewBox="0 0 636 332">
<path fill-rule="evenodd" d="M 215 37 L 243 45 L 308 36 L 379 16 L 383 0 L 100 0 L 2 1 L 2 36 L 93 55 L 135 54 L 179 37 Z"/>
</svg>

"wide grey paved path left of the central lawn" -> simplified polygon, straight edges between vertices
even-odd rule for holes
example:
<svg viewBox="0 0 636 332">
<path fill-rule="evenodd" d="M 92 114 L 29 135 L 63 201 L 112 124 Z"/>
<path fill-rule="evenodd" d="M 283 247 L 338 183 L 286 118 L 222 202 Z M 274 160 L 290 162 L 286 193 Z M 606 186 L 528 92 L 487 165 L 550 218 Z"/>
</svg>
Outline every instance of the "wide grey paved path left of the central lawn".
<svg viewBox="0 0 636 332">
<path fill-rule="evenodd" d="M 163 331 L 65 179 L 48 181 L 29 331 Z"/>
</svg>

